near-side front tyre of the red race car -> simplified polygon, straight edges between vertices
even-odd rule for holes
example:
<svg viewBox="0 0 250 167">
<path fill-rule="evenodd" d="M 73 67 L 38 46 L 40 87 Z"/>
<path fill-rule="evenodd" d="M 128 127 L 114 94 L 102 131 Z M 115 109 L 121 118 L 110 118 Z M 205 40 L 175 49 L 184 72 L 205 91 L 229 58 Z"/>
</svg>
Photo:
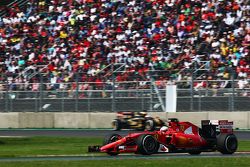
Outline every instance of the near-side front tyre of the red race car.
<svg viewBox="0 0 250 167">
<path fill-rule="evenodd" d="M 151 135 L 141 135 L 136 140 L 138 152 L 143 155 L 151 155 L 158 151 L 159 143 Z"/>
</svg>

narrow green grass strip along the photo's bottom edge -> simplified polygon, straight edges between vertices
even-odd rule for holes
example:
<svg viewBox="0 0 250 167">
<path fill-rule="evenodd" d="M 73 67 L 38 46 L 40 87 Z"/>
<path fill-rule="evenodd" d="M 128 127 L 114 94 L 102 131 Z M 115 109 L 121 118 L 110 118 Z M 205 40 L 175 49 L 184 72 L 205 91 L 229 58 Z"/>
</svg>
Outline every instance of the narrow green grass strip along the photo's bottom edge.
<svg viewBox="0 0 250 167">
<path fill-rule="evenodd" d="M 250 158 L 4 162 L 1 167 L 249 167 Z"/>
</svg>

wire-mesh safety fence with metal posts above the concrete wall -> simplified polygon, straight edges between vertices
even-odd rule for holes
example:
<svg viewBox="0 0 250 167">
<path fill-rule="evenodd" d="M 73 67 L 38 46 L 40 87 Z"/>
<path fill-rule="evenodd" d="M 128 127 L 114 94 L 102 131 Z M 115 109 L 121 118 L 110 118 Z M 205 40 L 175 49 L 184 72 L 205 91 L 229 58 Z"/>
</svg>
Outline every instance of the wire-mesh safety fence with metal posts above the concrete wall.
<svg viewBox="0 0 250 167">
<path fill-rule="evenodd" d="M 202 82 L 205 83 L 199 86 Z M 220 87 L 222 82 L 230 86 Z M 171 83 L 177 85 L 177 112 L 249 111 L 250 89 L 237 87 L 238 82 L 199 80 Z M 165 102 L 166 84 L 166 81 L 2 83 L 0 111 L 162 111 L 159 97 Z"/>
</svg>

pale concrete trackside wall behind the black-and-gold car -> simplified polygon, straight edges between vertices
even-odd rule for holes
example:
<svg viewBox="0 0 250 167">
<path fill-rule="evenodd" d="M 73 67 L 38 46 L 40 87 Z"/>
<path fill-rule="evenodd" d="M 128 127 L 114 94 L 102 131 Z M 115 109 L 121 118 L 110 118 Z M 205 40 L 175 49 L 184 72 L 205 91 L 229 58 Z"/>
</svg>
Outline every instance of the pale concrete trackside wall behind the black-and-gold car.
<svg viewBox="0 0 250 167">
<path fill-rule="evenodd" d="M 250 111 L 248 112 L 153 112 L 167 121 L 178 118 L 201 125 L 201 120 L 229 120 L 234 128 L 250 129 Z M 0 113 L 0 128 L 111 128 L 115 113 L 104 112 L 11 112 Z"/>
</svg>

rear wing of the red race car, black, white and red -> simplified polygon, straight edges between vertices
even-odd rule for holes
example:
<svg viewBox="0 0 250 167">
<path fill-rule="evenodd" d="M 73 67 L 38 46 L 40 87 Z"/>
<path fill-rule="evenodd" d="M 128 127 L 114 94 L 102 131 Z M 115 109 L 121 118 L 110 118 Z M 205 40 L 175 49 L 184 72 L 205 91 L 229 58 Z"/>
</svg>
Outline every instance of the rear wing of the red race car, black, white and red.
<svg viewBox="0 0 250 167">
<path fill-rule="evenodd" d="M 202 120 L 202 128 L 208 125 L 216 127 L 220 133 L 233 133 L 233 121 L 228 120 Z"/>
</svg>

